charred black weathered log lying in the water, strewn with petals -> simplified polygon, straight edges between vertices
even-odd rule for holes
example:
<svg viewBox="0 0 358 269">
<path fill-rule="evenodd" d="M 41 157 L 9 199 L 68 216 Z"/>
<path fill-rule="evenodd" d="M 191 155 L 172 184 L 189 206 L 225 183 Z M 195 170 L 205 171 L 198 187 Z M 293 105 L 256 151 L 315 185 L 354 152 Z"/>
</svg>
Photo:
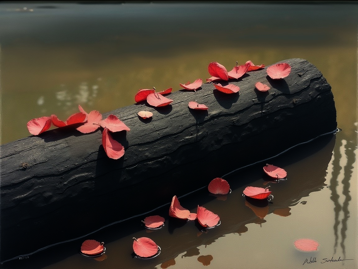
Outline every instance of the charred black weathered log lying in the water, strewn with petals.
<svg viewBox="0 0 358 269">
<path fill-rule="evenodd" d="M 113 134 L 125 147 L 118 160 L 106 156 L 99 130 L 62 127 L 2 145 L 1 261 L 144 213 L 334 131 L 333 94 L 321 72 L 303 59 L 284 62 L 292 67 L 285 79 L 262 69 L 229 81 L 240 86 L 236 94 L 204 84 L 172 93 L 163 108 L 143 102 L 103 114 L 131 128 Z M 271 89 L 257 91 L 257 81 Z M 189 109 L 193 100 L 209 110 Z M 139 118 L 140 110 L 153 119 Z"/>
</svg>

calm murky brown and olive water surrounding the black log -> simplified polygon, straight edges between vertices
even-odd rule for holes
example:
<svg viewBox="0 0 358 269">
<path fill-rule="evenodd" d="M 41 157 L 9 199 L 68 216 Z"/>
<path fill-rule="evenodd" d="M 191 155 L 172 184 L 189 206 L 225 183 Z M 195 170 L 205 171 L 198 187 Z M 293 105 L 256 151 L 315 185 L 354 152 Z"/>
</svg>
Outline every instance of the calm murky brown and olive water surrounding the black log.
<svg viewBox="0 0 358 269">
<path fill-rule="evenodd" d="M 342 129 L 268 161 L 287 171 L 285 181 L 269 182 L 260 162 L 224 176 L 232 189 L 225 200 L 206 188 L 180 198 L 192 212 L 199 204 L 220 216 L 207 233 L 196 222 L 170 219 L 165 205 L 1 266 L 357 268 L 357 18 L 354 3 L 1 3 L 2 144 L 29 136 L 33 118 L 66 119 L 78 104 L 105 113 L 133 104 L 142 88 L 179 90 L 179 83 L 205 80 L 212 61 L 310 61 L 332 86 Z M 272 203 L 247 203 L 241 194 L 249 185 L 270 185 Z M 165 226 L 149 233 L 140 221 L 154 214 Z M 158 257 L 132 257 L 132 237 L 142 236 L 161 247 Z M 304 237 L 319 250 L 296 250 L 293 242 Z M 105 242 L 104 260 L 78 254 L 85 239 Z M 303 265 L 311 257 L 317 262 Z M 353 260 L 321 264 L 332 257 Z"/>
</svg>

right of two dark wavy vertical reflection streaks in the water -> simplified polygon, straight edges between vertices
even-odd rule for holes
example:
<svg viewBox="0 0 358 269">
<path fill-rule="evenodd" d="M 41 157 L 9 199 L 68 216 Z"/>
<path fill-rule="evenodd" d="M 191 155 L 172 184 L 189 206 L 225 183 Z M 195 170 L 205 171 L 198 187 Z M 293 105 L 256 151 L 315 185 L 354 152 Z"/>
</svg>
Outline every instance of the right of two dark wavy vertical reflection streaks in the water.
<svg viewBox="0 0 358 269">
<path fill-rule="evenodd" d="M 350 191 L 349 191 L 350 182 L 349 181 L 350 181 L 350 178 L 352 177 L 353 164 L 355 162 L 353 148 L 354 148 L 354 145 L 350 145 L 350 142 L 347 142 L 345 144 L 345 156 L 347 157 L 347 164 L 344 166 L 344 178 L 342 180 L 342 184 L 343 184 L 342 194 L 345 196 L 345 199 L 344 199 L 344 202 L 342 205 L 343 219 L 342 219 L 342 228 L 340 231 L 340 234 L 342 236 L 342 241 L 340 243 L 340 246 L 342 247 L 344 258 L 345 258 L 344 241 L 345 241 L 345 238 L 347 237 L 347 235 L 346 235 L 347 222 L 348 222 L 348 218 L 349 218 L 348 206 L 349 206 L 349 201 L 352 200 L 352 197 L 349 194 L 350 193 Z"/>
</svg>

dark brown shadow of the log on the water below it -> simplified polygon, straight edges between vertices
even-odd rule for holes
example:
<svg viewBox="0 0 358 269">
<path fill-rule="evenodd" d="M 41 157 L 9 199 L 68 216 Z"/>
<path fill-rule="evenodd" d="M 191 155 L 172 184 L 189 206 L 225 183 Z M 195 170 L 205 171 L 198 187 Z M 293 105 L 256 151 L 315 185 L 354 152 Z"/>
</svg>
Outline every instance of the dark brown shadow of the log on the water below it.
<svg viewBox="0 0 358 269">
<path fill-rule="evenodd" d="M 199 255 L 200 253 L 197 250 L 199 246 L 210 245 L 219 237 L 223 237 L 228 233 L 244 233 L 248 231 L 246 227 L 248 223 L 262 225 L 262 223 L 267 221 L 265 220 L 267 214 L 275 213 L 275 210 L 277 213 L 278 209 L 282 211 L 282 209 L 294 206 L 299 203 L 302 197 L 323 189 L 325 186 L 326 169 L 332 158 L 334 144 L 335 136 L 326 135 L 306 145 L 297 146 L 274 159 L 237 170 L 225 176 L 224 178 L 229 182 L 232 193 L 228 194 L 224 200 L 210 195 L 207 188 L 202 188 L 196 192 L 179 197 L 180 204 L 184 208 L 189 209 L 190 212 L 195 213 L 199 205 L 220 216 L 221 225 L 207 231 L 200 231 L 197 221 L 180 222 L 180 220 L 170 218 L 168 216 L 170 201 L 168 201 L 168 204 L 142 216 L 136 216 L 126 221 L 117 221 L 89 236 L 52 246 L 39 253 L 35 253 L 31 255 L 31 259 L 26 261 L 26 266 L 28 268 L 40 268 L 41 266 L 60 262 L 63 263 L 63 267 L 76 263 L 83 264 L 86 268 L 96 268 L 96 265 L 91 264 L 88 259 L 83 259 L 78 254 L 79 246 L 86 239 L 105 242 L 108 259 L 103 261 L 103 263 L 106 263 L 106 268 L 117 268 L 118 264 L 122 264 L 127 268 L 155 268 L 156 265 L 165 263 L 165 261 L 173 259 L 181 253 L 186 252 L 184 256 Z M 265 204 L 256 204 L 255 202 L 253 204 L 245 203 L 247 199 L 242 197 L 242 192 L 247 185 L 263 185 L 267 182 L 265 181 L 265 173 L 262 170 L 266 162 L 275 163 L 280 167 L 287 167 L 286 171 L 290 175 L 289 179 L 279 184 L 270 183 L 270 190 L 275 193 L 275 198 L 272 202 Z M 305 167 L 305 169 L 303 170 L 301 167 Z M 349 174 L 351 166 L 348 165 L 347 167 L 347 173 Z M 306 173 L 310 173 L 311 176 L 307 177 Z M 346 185 L 344 193 L 347 193 L 346 189 L 347 186 L 349 187 L 349 184 L 344 184 Z M 136 189 L 133 188 L 130 192 L 131 196 L 135 199 Z M 96 204 L 96 199 L 94 198 L 93 205 L 87 205 L 93 206 L 94 209 L 91 216 L 83 216 L 84 222 L 90 223 L 91 220 L 101 218 L 102 216 L 106 217 L 108 214 L 112 214 L 113 219 L 115 219 L 117 213 L 113 210 L 113 205 L 110 206 L 107 203 Z M 103 201 L 103 199 L 99 200 Z M 110 201 L 111 197 L 109 195 L 108 202 L 110 203 Z M 125 199 L 123 202 L 125 202 Z M 347 194 L 343 207 L 347 208 L 348 202 L 349 194 Z M 127 203 L 130 210 L 131 202 Z M 342 223 L 347 222 L 348 213 Z M 158 231 L 146 231 L 141 220 L 153 215 L 163 216 L 165 218 L 165 226 Z M 343 225 L 342 234 L 344 233 L 344 236 L 346 230 L 347 227 Z M 148 232 L 150 232 L 150 235 Z M 153 260 L 146 260 L 145 263 L 131 258 L 132 237 L 150 237 L 161 247 L 161 254 Z M 342 244 L 344 245 L 344 238 L 342 239 Z M 9 266 L 8 268 L 23 268 L 23 263 L 19 260 L 9 261 L 5 265 Z"/>
</svg>

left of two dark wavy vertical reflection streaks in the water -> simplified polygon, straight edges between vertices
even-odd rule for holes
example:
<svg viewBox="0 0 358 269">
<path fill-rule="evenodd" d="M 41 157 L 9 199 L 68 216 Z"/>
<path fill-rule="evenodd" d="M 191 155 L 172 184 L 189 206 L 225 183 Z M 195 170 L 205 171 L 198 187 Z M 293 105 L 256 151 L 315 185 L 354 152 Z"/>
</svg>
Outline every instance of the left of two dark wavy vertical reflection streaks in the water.
<svg viewBox="0 0 358 269">
<path fill-rule="evenodd" d="M 337 142 L 340 143 L 339 147 L 336 145 L 335 148 L 342 147 L 342 141 L 337 140 Z M 339 165 L 339 160 L 341 159 L 342 154 L 340 153 L 340 150 L 334 150 L 333 151 L 333 161 L 332 161 L 332 178 L 330 180 L 330 186 L 329 189 L 331 190 L 331 197 L 330 199 L 334 203 L 334 225 L 333 225 L 333 231 L 334 231 L 334 254 L 337 252 L 337 245 L 338 245 L 338 225 L 339 225 L 339 212 L 342 210 L 342 206 L 339 204 L 338 199 L 339 195 L 337 193 L 337 186 L 338 186 L 338 175 L 340 174 L 340 170 L 342 167 Z"/>
</svg>

